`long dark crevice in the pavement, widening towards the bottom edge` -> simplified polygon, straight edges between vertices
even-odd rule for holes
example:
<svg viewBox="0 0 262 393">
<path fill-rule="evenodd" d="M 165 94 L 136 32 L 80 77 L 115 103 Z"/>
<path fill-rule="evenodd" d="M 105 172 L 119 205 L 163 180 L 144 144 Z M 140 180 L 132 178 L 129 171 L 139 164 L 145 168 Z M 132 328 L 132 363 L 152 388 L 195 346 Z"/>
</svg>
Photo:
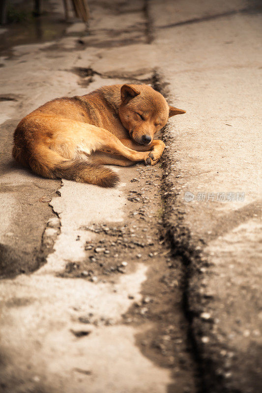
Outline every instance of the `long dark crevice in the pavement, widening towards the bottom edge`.
<svg viewBox="0 0 262 393">
<path fill-rule="evenodd" d="M 167 84 L 162 83 L 157 73 L 154 75 L 154 87 L 166 97 L 169 96 Z M 163 140 L 166 145 L 174 141 L 168 126 L 164 129 Z M 217 364 L 204 349 L 205 344 L 202 341 L 204 331 L 200 322 L 200 314 L 210 299 L 207 295 L 203 299 L 196 292 L 194 282 L 201 281 L 202 269 L 209 267 L 209 264 L 201 255 L 203 243 L 201 241 L 198 244 L 195 243 L 189 228 L 184 223 L 185 211 L 180 201 L 181 190 L 175 181 L 175 175 L 179 174 L 179 170 L 177 169 L 176 173 L 174 168 L 170 168 L 171 160 L 172 156 L 167 149 L 162 157 L 163 233 L 171 249 L 172 257 L 174 260 L 181 261 L 181 310 L 187 321 L 187 341 L 194 367 L 197 392 L 237 393 L 227 388 L 224 377 L 217 372 Z M 212 326 L 213 321 L 210 321 L 207 327 L 210 335 Z"/>
</svg>

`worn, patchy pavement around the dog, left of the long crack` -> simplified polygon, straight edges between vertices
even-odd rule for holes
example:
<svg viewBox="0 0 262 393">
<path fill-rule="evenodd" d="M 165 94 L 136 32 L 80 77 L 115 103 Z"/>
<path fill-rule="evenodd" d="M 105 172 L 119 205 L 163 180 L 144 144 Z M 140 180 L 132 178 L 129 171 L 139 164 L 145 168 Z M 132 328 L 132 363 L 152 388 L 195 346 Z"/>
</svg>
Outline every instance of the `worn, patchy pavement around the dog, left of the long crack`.
<svg viewBox="0 0 262 393">
<path fill-rule="evenodd" d="M 144 4 L 132 4 L 133 19 L 130 5 L 121 4 L 90 4 L 90 35 L 77 23 L 68 36 L 20 45 L 1 58 L 3 392 L 196 391 L 181 264 L 164 239 L 160 244 L 159 165 L 115 168 L 122 183 L 105 190 L 39 179 L 10 160 L 16 123 L 45 101 L 103 84 L 152 81 L 150 56 L 141 67 L 149 50 Z M 127 70 L 130 48 L 140 55 Z"/>
</svg>

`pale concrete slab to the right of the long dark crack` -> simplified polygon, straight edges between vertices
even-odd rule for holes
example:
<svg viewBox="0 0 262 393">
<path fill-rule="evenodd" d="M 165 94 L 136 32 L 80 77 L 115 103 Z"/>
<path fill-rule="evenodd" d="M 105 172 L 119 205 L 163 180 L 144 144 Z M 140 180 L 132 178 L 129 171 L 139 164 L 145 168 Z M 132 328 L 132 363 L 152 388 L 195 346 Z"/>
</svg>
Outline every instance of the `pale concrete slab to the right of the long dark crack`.
<svg viewBox="0 0 262 393">
<path fill-rule="evenodd" d="M 175 14 L 166 1 L 166 14 L 150 2 L 162 91 L 187 110 L 165 132 L 166 225 L 186 266 L 203 389 L 259 392 L 262 18 L 245 2 L 218 3 L 177 1 Z"/>
</svg>

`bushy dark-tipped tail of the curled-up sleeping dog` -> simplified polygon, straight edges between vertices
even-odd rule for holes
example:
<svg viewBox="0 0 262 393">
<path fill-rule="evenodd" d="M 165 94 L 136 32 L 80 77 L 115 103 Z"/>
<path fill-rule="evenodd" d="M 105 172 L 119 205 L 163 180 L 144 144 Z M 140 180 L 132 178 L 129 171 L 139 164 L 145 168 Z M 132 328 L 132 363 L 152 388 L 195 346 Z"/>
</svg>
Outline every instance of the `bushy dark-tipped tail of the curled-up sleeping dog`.
<svg viewBox="0 0 262 393">
<path fill-rule="evenodd" d="M 14 145 L 13 157 L 33 172 L 50 179 L 64 178 L 81 183 L 96 184 L 102 187 L 115 187 L 119 182 L 117 174 L 102 165 L 91 164 L 86 160 L 67 160 L 56 151 L 45 146 L 34 149 L 34 153 L 22 151 Z"/>
</svg>

